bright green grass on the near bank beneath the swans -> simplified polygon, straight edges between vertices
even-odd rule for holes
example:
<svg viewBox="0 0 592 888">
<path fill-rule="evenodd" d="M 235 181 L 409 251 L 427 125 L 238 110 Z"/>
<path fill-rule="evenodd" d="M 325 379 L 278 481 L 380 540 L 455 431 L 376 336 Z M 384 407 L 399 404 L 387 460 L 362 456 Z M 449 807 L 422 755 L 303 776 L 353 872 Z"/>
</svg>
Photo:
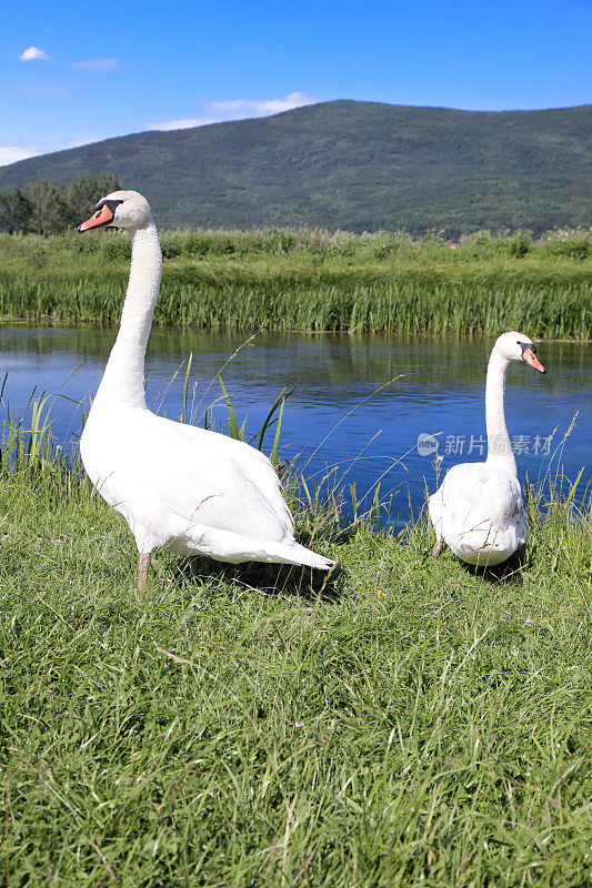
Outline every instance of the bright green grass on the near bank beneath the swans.
<svg viewBox="0 0 592 888">
<path fill-rule="evenodd" d="M 293 503 L 340 558 L 324 589 L 160 554 L 139 594 L 127 527 L 47 440 L 2 456 L 3 886 L 586 884 L 592 543 L 569 505 L 531 504 L 495 577 L 433 562 L 423 523 L 335 533 Z"/>
</svg>

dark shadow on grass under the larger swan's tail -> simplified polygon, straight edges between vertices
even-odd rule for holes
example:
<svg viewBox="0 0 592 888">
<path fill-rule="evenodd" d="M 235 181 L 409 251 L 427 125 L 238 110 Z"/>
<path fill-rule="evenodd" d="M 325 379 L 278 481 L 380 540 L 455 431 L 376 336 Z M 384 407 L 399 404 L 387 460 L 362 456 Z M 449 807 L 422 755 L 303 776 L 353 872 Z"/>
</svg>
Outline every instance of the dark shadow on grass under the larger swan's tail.
<svg viewBox="0 0 592 888">
<path fill-rule="evenodd" d="M 307 602 L 337 602 L 341 595 L 339 578 L 343 568 L 337 565 L 332 571 L 317 571 L 311 567 L 291 564 L 264 564 L 244 562 L 225 564 L 207 556 L 175 558 L 173 575 L 185 583 L 217 579 L 251 588 L 253 593 L 270 596 L 289 596 Z"/>
</svg>

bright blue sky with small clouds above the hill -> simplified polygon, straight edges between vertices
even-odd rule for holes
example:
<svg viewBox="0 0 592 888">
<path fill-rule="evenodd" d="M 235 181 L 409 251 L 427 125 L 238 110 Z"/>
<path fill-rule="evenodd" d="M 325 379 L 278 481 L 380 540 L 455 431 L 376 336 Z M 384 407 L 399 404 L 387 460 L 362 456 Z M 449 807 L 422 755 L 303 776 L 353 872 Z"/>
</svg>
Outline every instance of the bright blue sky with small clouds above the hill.
<svg viewBox="0 0 592 888">
<path fill-rule="evenodd" d="M 0 164 L 332 99 L 591 101 L 590 0 L 27 0 L 1 24 Z"/>
</svg>

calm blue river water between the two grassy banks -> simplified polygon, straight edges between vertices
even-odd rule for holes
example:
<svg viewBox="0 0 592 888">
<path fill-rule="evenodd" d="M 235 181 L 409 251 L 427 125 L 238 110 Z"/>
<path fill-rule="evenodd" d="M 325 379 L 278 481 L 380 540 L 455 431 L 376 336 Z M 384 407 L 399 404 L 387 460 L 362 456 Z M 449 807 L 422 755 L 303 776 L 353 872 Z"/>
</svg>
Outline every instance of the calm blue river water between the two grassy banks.
<svg viewBox="0 0 592 888">
<path fill-rule="evenodd" d="M 37 386 L 38 393 L 58 395 L 52 427 L 67 443 L 80 431 L 77 404 L 97 391 L 114 336 L 112 329 L 0 329 L 0 375 L 8 371 L 0 417 L 8 408 L 21 416 Z M 295 386 L 284 411 L 284 456 L 299 454 L 308 477 L 321 481 L 332 471 L 332 478 L 355 483 L 358 500 L 372 496 L 382 478 L 381 497 L 394 494 L 393 519 L 398 511 L 407 518 L 409 497 L 414 508 L 424 502 L 425 484 L 430 492 L 435 488 L 434 454 L 422 456 L 417 448 L 421 433 L 438 435 L 443 471 L 483 458 L 485 370 L 493 340 L 261 333 L 244 344 L 247 339 L 228 332 L 154 330 L 147 353 L 150 407 L 172 418 L 181 415 L 183 362 L 190 352 L 188 406 L 199 422 L 213 404 L 215 426 L 225 428 L 220 372 L 250 434 L 283 386 Z M 541 342 L 538 353 L 545 376 L 521 364 L 512 364 L 508 374 L 506 420 L 520 476 L 524 480 L 528 471 L 536 481 L 550 471 L 554 476 L 562 466 L 575 478 L 585 465 L 585 481 L 592 345 Z M 578 411 L 574 431 L 553 457 Z M 271 444 L 272 434 L 267 452 Z"/>
</svg>

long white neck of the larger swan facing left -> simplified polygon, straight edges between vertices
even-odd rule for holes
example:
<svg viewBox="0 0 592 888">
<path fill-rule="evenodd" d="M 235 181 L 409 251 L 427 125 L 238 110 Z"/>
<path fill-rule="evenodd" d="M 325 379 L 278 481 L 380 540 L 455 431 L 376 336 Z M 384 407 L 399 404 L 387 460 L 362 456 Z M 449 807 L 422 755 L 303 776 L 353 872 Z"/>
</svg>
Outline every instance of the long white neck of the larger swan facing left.
<svg viewBox="0 0 592 888">
<path fill-rule="evenodd" d="M 144 355 L 162 275 L 162 253 L 152 220 L 130 231 L 131 269 L 116 344 L 97 397 L 146 407 Z"/>
</svg>

